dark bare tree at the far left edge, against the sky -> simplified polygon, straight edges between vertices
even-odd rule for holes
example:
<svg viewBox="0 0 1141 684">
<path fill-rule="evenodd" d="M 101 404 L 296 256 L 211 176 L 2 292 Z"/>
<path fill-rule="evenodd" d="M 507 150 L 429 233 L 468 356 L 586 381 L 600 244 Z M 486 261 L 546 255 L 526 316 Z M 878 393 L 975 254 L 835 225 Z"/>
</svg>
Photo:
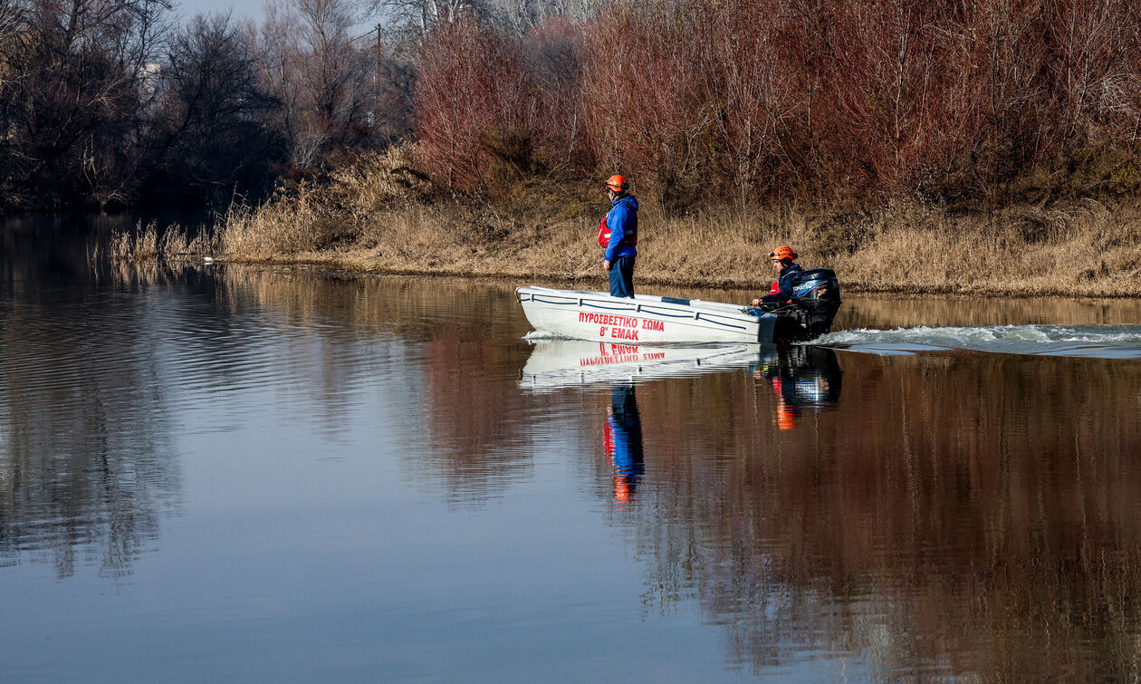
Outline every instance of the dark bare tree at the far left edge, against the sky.
<svg viewBox="0 0 1141 684">
<path fill-rule="evenodd" d="M 5 98 L 7 130 L 18 131 L 9 178 L 54 202 L 131 199 L 145 153 L 145 66 L 169 9 L 167 0 L 31 0 L 24 18 L 9 15 L 23 22 L 7 56 L 19 65 Z"/>
</svg>

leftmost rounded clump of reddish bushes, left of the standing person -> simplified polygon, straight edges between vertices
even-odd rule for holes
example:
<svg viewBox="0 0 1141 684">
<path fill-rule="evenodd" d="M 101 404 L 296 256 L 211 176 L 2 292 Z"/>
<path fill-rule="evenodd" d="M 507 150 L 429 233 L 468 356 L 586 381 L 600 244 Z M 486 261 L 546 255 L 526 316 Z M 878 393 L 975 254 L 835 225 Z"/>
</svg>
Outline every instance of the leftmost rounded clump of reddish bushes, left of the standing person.
<svg viewBox="0 0 1141 684">
<path fill-rule="evenodd" d="M 581 155 L 578 38 L 564 19 L 523 39 L 467 18 L 437 30 L 415 87 L 416 132 L 437 179 L 494 191 Z"/>
</svg>

